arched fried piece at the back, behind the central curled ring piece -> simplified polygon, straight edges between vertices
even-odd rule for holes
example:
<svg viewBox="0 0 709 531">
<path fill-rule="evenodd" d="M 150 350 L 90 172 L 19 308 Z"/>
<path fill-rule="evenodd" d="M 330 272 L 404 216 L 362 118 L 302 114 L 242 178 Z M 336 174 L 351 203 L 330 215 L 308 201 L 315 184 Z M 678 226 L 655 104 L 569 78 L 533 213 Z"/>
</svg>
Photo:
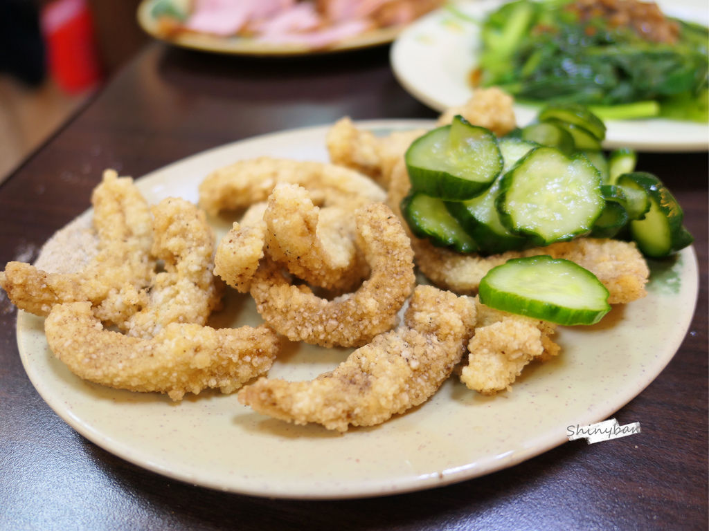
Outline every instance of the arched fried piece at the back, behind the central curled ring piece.
<svg viewBox="0 0 709 531">
<path fill-rule="evenodd" d="M 272 159 L 238 161 L 210 173 L 199 185 L 199 204 L 211 215 L 265 201 L 278 183 L 298 184 L 313 202 L 350 210 L 383 201 L 385 194 L 367 176 L 322 162 Z"/>
</svg>

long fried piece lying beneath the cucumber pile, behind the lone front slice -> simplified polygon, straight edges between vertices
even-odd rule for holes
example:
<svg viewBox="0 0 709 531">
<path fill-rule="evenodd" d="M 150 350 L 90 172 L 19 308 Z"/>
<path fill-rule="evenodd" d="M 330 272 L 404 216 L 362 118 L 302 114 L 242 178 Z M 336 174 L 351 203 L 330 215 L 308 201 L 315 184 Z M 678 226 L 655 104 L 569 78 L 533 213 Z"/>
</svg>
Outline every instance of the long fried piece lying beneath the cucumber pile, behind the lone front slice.
<svg viewBox="0 0 709 531">
<path fill-rule="evenodd" d="M 401 161 L 392 173 L 387 203 L 401 217 L 399 205 L 410 188 L 406 166 Z M 566 258 L 591 271 L 603 282 L 610 295 L 610 304 L 625 304 L 647 295 L 645 285 L 649 278 L 647 262 L 635 243 L 613 239 L 578 238 L 558 242 L 545 247 L 524 251 L 508 251 L 492 256 L 460 254 L 433 246 L 430 241 L 419 239 L 403 222 L 415 254 L 416 265 L 421 273 L 435 285 L 457 293 L 475 293 L 491 268 L 510 258 L 520 256 L 549 255 Z"/>
</svg>

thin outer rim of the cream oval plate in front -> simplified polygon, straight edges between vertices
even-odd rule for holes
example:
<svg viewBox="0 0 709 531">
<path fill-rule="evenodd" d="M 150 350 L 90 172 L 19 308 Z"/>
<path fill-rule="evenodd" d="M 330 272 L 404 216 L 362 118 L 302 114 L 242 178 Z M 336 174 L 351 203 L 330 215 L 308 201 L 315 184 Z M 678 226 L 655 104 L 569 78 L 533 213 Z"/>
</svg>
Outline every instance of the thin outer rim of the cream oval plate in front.
<svg viewBox="0 0 709 531">
<path fill-rule="evenodd" d="M 363 120 L 363 121 L 357 121 L 355 122 L 355 125 L 358 125 L 359 127 L 369 127 L 370 129 L 377 129 L 377 128 L 386 128 L 386 127 L 391 127 L 393 129 L 401 129 L 403 127 L 419 127 L 423 123 L 428 123 L 430 124 L 432 120 Z M 193 159 L 199 159 L 201 157 L 209 157 L 212 156 L 216 151 L 221 150 L 221 149 L 230 149 L 231 147 L 235 146 L 236 144 L 243 144 L 245 142 L 250 142 L 250 141 L 259 141 L 262 142 L 264 140 L 268 141 L 269 139 L 274 139 L 274 138 L 279 138 L 279 137 L 287 137 L 289 135 L 299 135 L 303 132 L 311 132 L 311 133 L 317 133 L 317 132 L 324 132 L 327 131 L 331 126 L 330 125 L 316 125 L 316 126 L 311 126 L 311 127 L 299 127 L 299 128 L 294 128 L 291 130 L 284 130 L 284 131 L 277 131 L 277 132 L 272 132 L 272 133 L 266 133 L 264 135 L 258 135 L 256 137 L 249 137 L 247 139 L 241 139 L 237 140 L 235 142 L 230 142 L 228 144 L 224 144 L 223 146 L 218 146 L 213 149 L 208 149 L 204 152 L 200 152 L 198 154 L 194 154 L 188 157 L 185 157 L 184 159 L 181 159 L 179 161 L 175 161 L 171 164 L 168 164 L 166 166 L 163 166 L 160 169 L 157 169 L 155 171 L 151 171 L 150 173 L 146 173 L 145 176 L 141 176 L 140 178 L 137 178 L 136 181 L 140 181 L 141 179 L 147 179 L 150 178 L 151 176 L 158 175 L 159 173 L 162 173 L 164 171 L 169 171 L 174 165 L 177 164 L 184 164 L 186 161 L 191 161 Z M 89 208 L 88 210 L 85 210 L 82 212 L 81 215 L 77 216 L 77 218 L 82 217 L 82 216 L 87 216 L 89 215 L 89 212 L 91 212 L 91 209 Z M 75 218 L 75 219 L 77 219 Z M 641 394 L 644 389 L 651 384 L 654 379 L 656 379 L 662 370 L 664 370 L 664 367 L 666 367 L 667 364 L 674 358 L 674 355 L 676 355 L 677 351 L 679 350 L 679 347 L 681 346 L 681 343 L 684 341 L 684 338 L 686 337 L 686 333 L 691 326 L 691 321 L 692 321 L 692 316 L 694 312 L 696 312 L 696 303 L 698 299 L 698 260 L 696 256 L 696 249 L 694 246 L 690 246 L 686 249 L 683 249 L 681 251 L 683 254 L 683 259 L 688 260 L 689 263 L 685 265 L 685 267 L 691 268 L 695 275 L 694 278 L 691 279 L 693 282 L 693 293 L 694 293 L 694 300 L 693 300 L 693 306 L 692 306 L 692 312 L 690 319 L 684 324 L 683 329 L 679 330 L 675 336 L 673 336 L 673 342 L 672 342 L 672 348 L 668 349 L 671 350 L 671 354 L 666 354 L 661 358 L 657 358 L 657 361 L 650 366 L 652 370 L 649 370 L 647 372 L 647 375 L 641 380 L 635 380 L 634 383 L 635 385 L 632 387 L 627 387 L 624 389 L 624 392 L 620 394 L 621 398 L 618 398 L 618 393 L 615 394 L 615 400 L 614 401 L 608 401 L 603 404 L 603 408 L 599 409 L 593 409 L 593 411 L 586 412 L 585 416 L 580 416 L 579 421 L 588 422 L 588 423 L 593 423 L 596 421 L 603 420 L 604 418 L 607 418 L 611 414 L 615 413 L 615 411 L 618 411 L 619 409 L 622 409 L 623 406 L 625 406 L 627 403 L 629 403 L 632 399 L 634 399 L 636 396 Z M 465 481 L 467 479 L 474 479 L 476 477 L 486 475 L 486 474 L 491 474 L 493 472 L 498 472 L 501 469 L 506 469 L 508 467 L 512 467 L 515 464 L 519 464 L 520 462 L 524 462 L 527 459 L 531 459 L 532 457 L 536 457 L 537 455 L 541 455 L 542 453 L 545 453 L 549 450 L 552 450 L 552 448 L 557 447 L 559 445 L 562 445 L 564 442 L 567 442 L 566 437 L 564 436 L 564 431 L 563 430 L 547 430 L 546 433 L 541 433 L 540 435 L 537 435 L 535 438 L 533 438 L 530 442 L 530 440 L 527 440 L 527 445 L 526 447 L 522 449 L 518 449 L 514 452 L 513 455 L 511 456 L 501 456 L 501 455 L 495 455 L 495 456 L 488 456 L 486 459 L 483 461 L 483 466 L 478 467 L 478 463 L 467 463 L 462 467 L 457 467 L 457 469 L 450 469 L 446 470 L 443 472 L 440 472 L 437 476 L 434 476 L 432 474 L 428 474 L 428 476 L 417 476 L 417 477 L 410 477 L 408 479 L 403 479 L 403 480 L 398 480 L 399 483 L 394 486 L 394 488 L 391 488 L 390 484 L 386 484 L 385 481 L 378 480 L 378 481 L 372 481 L 371 483 L 363 484 L 359 487 L 359 489 L 343 489 L 341 491 L 333 491 L 331 486 L 325 486 L 321 487 L 320 490 L 318 489 L 313 489 L 312 491 L 308 491 L 307 493 L 298 493 L 296 491 L 291 491 L 289 489 L 283 489 L 281 491 L 274 490 L 273 488 L 269 489 L 259 489 L 255 486 L 252 486 L 250 489 L 245 489 L 245 488 L 237 488 L 233 485 L 231 486 L 225 486 L 223 483 L 220 483 L 219 481 L 208 481 L 204 478 L 200 478 L 197 476 L 194 476 L 194 474 L 186 473 L 186 472 L 180 472 L 175 471 L 174 469 L 169 469 L 167 466 L 163 466 L 158 462 L 155 462 L 154 460 L 151 459 L 142 459 L 140 455 L 135 455 L 130 451 L 124 451 L 123 447 L 125 444 L 121 442 L 117 442 L 116 440 L 113 440 L 110 436 L 104 435 L 101 433 L 99 430 L 96 430 L 95 428 L 92 428 L 91 426 L 87 425 L 84 421 L 82 421 L 79 417 L 76 415 L 72 414 L 72 411 L 70 410 L 65 410 L 62 409 L 60 406 L 57 406 L 55 404 L 55 399 L 52 396 L 46 396 L 47 389 L 45 389 L 43 382 L 41 380 L 38 381 L 38 375 L 34 371 L 34 367 L 32 367 L 28 354 L 24 351 L 24 346 L 21 343 L 21 331 L 20 331 L 20 326 L 21 326 L 21 321 L 26 321 L 26 319 L 40 319 L 35 316 L 32 316 L 30 314 L 26 314 L 26 312 L 22 312 L 21 310 L 18 311 L 18 319 L 17 319 L 17 324 L 16 324 L 16 338 L 17 338 L 17 343 L 18 343 L 18 350 L 20 351 L 20 356 L 21 356 L 21 361 L 24 367 L 24 370 L 26 371 L 26 374 L 28 375 L 30 382 L 32 382 L 33 386 L 37 390 L 38 394 L 42 396 L 43 400 L 45 401 L 48 406 L 50 406 L 50 409 L 52 411 L 55 411 L 57 416 L 60 416 L 62 420 L 64 420 L 69 426 L 71 426 L 77 433 L 83 435 L 86 439 L 90 440 L 91 442 L 94 442 L 94 444 L 98 445 L 99 447 L 103 448 L 107 452 L 111 453 L 112 455 L 116 455 L 116 457 L 120 457 L 121 459 L 125 459 L 128 462 L 131 462 L 135 464 L 136 466 L 150 470 L 151 472 L 155 472 L 157 474 L 160 474 L 162 476 L 167 476 L 172 479 L 176 479 L 178 481 L 184 481 L 189 484 L 196 484 L 200 485 L 203 487 L 206 487 L 208 489 L 214 489 L 218 491 L 228 491 L 232 493 L 240 493 L 240 494 L 245 494 L 245 495 L 250 495 L 250 496 L 264 496 L 264 497 L 270 497 L 270 498 L 284 498 L 284 499 L 308 499 L 308 500 L 323 500 L 323 499 L 354 499 L 354 498 L 368 498 L 368 497 L 374 497 L 374 496 L 386 496 L 389 494 L 396 494 L 396 493 L 407 493 L 407 492 L 412 492 L 412 491 L 421 491 L 425 489 L 430 489 L 434 488 L 437 486 L 445 486 L 448 484 L 454 484 L 458 483 L 460 481 Z M 681 332 L 681 333 L 680 333 Z M 585 425 L 585 424 L 584 424 Z M 474 472 L 471 472 L 474 471 Z M 403 482 L 402 482 L 403 481 Z"/>
</svg>

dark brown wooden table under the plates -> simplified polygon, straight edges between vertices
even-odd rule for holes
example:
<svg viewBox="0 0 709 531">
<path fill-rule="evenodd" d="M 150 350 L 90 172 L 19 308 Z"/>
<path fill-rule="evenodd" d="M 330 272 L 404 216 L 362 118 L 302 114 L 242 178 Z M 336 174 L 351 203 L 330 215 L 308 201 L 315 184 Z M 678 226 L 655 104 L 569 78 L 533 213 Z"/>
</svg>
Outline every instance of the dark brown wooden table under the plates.
<svg viewBox="0 0 709 531">
<path fill-rule="evenodd" d="M 153 43 L 0 186 L 0 263 L 33 260 L 52 232 L 86 209 L 104 168 L 141 176 L 226 142 L 344 115 L 436 113 L 401 89 L 386 47 L 248 59 Z M 640 168 L 652 168 L 683 205 L 700 264 L 698 307 L 679 352 L 618 413 L 623 423 L 640 422 L 640 435 L 569 442 L 489 476 L 386 498 L 288 501 L 211 491 L 124 462 L 60 420 L 26 377 L 16 310 L 1 298 L 0 528 L 706 528 L 707 162 L 706 153 L 640 156 Z"/>
</svg>

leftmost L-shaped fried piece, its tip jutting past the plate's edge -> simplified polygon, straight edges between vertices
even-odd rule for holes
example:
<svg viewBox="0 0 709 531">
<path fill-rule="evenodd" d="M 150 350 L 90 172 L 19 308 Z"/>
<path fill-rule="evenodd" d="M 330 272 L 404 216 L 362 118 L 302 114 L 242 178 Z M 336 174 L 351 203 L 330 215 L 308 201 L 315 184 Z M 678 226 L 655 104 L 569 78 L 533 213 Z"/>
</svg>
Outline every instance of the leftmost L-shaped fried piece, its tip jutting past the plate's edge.
<svg viewBox="0 0 709 531">
<path fill-rule="evenodd" d="M 33 265 L 9 262 L 0 273 L 0 286 L 18 308 L 47 315 L 54 304 L 89 300 L 104 306 L 102 318 L 125 320 L 145 298 L 155 260 L 150 257 L 152 219 L 147 202 L 129 177 L 104 172 L 91 196 L 96 255 L 78 273 L 47 273 Z"/>
</svg>

